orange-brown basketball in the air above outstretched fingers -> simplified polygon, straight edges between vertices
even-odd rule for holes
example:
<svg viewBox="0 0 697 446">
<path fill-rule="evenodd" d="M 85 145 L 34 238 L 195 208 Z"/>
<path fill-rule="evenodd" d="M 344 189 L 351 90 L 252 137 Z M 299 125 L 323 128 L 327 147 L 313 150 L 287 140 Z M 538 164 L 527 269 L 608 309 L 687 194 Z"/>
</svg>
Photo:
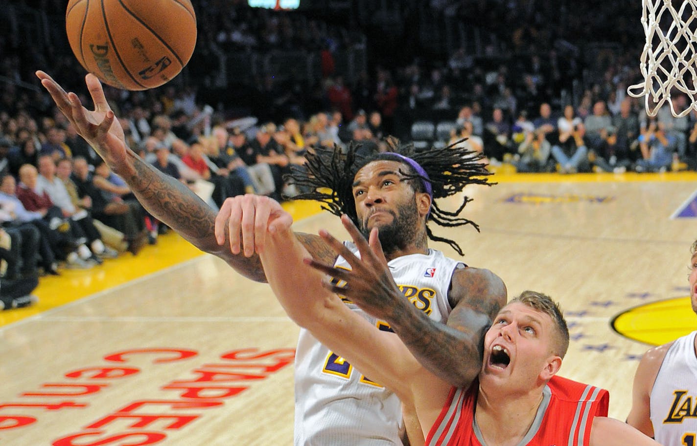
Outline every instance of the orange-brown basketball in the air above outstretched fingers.
<svg viewBox="0 0 697 446">
<path fill-rule="evenodd" d="M 190 0 L 70 0 L 66 31 L 85 70 L 110 86 L 146 90 L 187 64 L 196 15 Z"/>
</svg>

